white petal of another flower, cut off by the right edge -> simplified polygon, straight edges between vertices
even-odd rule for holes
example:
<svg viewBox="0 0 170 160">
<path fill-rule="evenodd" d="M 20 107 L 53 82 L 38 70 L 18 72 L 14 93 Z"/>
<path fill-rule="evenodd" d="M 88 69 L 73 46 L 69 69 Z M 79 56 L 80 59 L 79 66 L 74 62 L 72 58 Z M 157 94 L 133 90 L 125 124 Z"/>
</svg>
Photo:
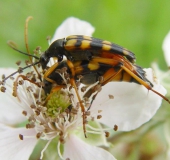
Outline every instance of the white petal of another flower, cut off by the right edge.
<svg viewBox="0 0 170 160">
<path fill-rule="evenodd" d="M 166 35 L 162 49 L 164 51 L 165 61 L 168 66 L 170 66 L 170 32 Z"/>
</svg>

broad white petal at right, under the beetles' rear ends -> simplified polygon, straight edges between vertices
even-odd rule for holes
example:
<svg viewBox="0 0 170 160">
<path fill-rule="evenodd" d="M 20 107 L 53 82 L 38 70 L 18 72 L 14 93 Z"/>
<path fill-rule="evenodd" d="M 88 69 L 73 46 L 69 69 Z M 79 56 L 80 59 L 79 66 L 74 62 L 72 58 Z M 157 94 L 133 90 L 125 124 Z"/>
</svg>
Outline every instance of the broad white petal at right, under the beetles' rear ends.
<svg viewBox="0 0 170 160">
<path fill-rule="evenodd" d="M 154 82 L 151 69 L 146 70 L 154 89 L 165 95 L 166 90 Z M 113 95 L 114 99 L 109 99 Z M 162 98 L 144 86 L 135 83 L 110 82 L 102 87 L 97 95 L 91 112 L 102 110 L 100 122 L 118 130 L 133 130 L 149 121 L 160 107 Z"/>
</svg>

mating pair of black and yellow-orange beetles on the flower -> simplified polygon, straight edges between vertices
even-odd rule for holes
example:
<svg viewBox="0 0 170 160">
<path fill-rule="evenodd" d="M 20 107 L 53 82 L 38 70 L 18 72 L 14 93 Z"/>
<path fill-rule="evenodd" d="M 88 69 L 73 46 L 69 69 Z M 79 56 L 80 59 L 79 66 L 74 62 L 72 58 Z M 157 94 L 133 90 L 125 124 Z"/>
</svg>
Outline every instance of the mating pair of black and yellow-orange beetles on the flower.
<svg viewBox="0 0 170 160">
<path fill-rule="evenodd" d="M 63 60 L 63 56 L 66 56 L 67 60 Z M 47 64 L 52 57 L 57 58 L 58 62 L 47 69 Z M 101 86 L 111 81 L 134 82 L 143 85 L 170 103 L 166 97 L 153 89 L 153 84 L 145 77 L 145 71 L 134 64 L 135 55 L 109 41 L 83 35 L 72 35 L 54 41 L 40 58 L 35 58 L 38 59 L 38 62 L 31 64 L 32 66 L 40 63 L 43 69 L 47 69 L 44 73 L 45 92 L 49 92 L 49 87 L 53 83 L 62 86 L 62 78 L 55 71 L 63 67 L 67 68 L 70 74 L 70 84 L 74 87 L 80 102 L 84 133 L 86 132 L 86 110 L 76 86 L 80 75 L 82 76 L 81 83 L 86 85 L 97 82 L 100 77 L 102 77 Z M 55 88 L 50 88 L 51 90 L 53 91 Z"/>
</svg>

